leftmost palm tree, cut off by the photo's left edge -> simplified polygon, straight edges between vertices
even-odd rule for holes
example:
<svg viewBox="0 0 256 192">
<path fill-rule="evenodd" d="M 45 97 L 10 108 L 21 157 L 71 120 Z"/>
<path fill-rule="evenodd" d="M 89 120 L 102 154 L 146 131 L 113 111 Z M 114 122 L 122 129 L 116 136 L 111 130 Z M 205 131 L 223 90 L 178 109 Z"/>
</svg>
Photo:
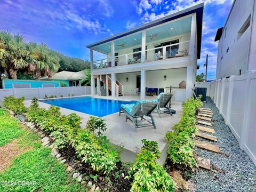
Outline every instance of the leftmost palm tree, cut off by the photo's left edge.
<svg viewBox="0 0 256 192">
<path fill-rule="evenodd" d="M 0 65 L 9 70 L 13 79 L 17 79 L 19 69 L 25 69 L 34 62 L 21 35 L 0 31 Z"/>
</svg>

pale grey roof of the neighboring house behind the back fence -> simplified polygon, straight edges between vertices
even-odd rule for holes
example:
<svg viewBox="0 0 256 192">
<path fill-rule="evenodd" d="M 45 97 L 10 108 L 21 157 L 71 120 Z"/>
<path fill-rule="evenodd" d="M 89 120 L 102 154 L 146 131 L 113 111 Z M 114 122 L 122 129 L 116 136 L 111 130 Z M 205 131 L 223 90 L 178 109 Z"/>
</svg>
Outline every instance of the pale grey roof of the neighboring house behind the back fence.
<svg viewBox="0 0 256 192">
<path fill-rule="evenodd" d="M 59 73 L 55 73 L 52 76 L 52 79 L 58 80 L 78 80 L 85 78 L 86 75 L 84 71 L 71 72 L 71 71 L 60 71 Z M 41 79 L 49 79 L 48 76 L 42 77 Z"/>
</svg>

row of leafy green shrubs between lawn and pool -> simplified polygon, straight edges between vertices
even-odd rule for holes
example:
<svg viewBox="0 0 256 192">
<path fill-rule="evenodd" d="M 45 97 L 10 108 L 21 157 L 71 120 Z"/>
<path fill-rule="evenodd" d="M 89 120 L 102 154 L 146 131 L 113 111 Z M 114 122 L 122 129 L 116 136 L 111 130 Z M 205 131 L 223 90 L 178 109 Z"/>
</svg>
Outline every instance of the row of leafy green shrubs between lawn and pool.
<svg viewBox="0 0 256 192">
<path fill-rule="evenodd" d="M 45 110 L 39 108 L 37 102 L 36 99 L 32 100 L 27 117 L 53 136 L 57 148 L 63 149 L 71 144 L 82 162 L 89 163 L 95 171 L 108 173 L 115 168 L 118 155 L 100 132 L 106 131 L 103 119 L 90 117 L 86 123 L 87 129 L 82 130 L 82 118 L 75 113 L 61 115 L 59 107 L 51 106 L 49 110 Z M 99 130 L 99 137 L 95 137 L 94 130 Z"/>
</svg>

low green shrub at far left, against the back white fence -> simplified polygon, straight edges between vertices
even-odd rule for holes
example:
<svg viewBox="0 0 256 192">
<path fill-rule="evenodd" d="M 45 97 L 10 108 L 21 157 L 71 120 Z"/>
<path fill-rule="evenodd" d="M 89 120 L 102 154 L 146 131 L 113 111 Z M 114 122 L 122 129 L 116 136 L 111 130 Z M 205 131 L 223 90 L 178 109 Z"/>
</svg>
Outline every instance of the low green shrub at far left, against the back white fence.
<svg viewBox="0 0 256 192">
<path fill-rule="evenodd" d="M 9 97 L 4 97 L 3 106 L 19 115 L 27 112 L 27 108 L 24 106 L 23 101 L 25 101 L 25 97 L 15 98 L 10 95 Z"/>
</svg>

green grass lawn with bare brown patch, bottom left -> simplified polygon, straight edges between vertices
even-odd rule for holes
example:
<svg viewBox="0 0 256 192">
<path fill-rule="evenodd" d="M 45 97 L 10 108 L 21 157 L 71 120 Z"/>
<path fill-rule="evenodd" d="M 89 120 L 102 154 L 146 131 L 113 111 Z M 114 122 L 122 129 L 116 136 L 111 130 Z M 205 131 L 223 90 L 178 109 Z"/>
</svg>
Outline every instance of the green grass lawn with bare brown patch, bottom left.
<svg viewBox="0 0 256 192">
<path fill-rule="evenodd" d="M 0 170 L 0 191 L 86 191 L 50 155 L 50 149 L 41 147 L 36 134 L 1 108 L 0 127 L 0 150 L 5 151 L 5 147 L 9 147 L 6 151 L 21 150 L 6 169 Z M 9 185 L 2 181 L 9 181 Z M 20 185 L 22 181 L 26 185 Z"/>
</svg>

